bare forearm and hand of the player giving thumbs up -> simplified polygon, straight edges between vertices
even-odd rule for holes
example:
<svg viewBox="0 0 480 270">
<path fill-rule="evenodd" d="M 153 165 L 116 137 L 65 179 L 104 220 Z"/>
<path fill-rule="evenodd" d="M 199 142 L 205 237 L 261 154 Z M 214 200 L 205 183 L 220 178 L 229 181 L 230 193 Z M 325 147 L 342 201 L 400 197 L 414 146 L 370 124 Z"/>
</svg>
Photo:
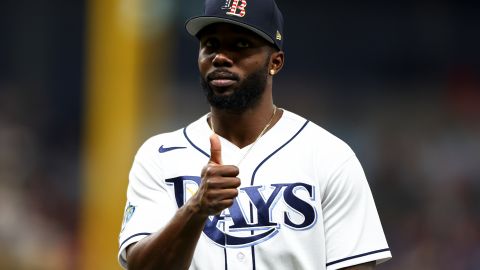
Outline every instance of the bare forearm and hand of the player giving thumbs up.
<svg viewBox="0 0 480 270">
<path fill-rule="evenodd" d="M 129 270 L 188 269 L 208 216 L 233 204 L 240 186 L 238 168 L 222 165 L 216 135 L 210 144 L 210 161 L 202 170 L 198 191 L 162 230 L 127 248 Z"/>
</svg>

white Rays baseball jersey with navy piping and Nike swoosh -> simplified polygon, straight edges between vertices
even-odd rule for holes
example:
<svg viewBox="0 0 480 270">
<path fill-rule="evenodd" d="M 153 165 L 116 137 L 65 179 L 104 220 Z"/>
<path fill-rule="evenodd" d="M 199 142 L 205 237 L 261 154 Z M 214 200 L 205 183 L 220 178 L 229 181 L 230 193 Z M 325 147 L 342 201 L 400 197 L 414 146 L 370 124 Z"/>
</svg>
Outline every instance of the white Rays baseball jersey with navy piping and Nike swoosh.
<svg viewBox="0 0 480 270">
<path fill-rule="evenodd" d="M 211 134 L 205 115 L 138 151 L 119 239 L 123 267 L 125 248 L 161 230 L 198 189 Z M 250 148 L 220 141 L 224 164 Z M 239 168 L 239 195 L 207 220 L 191 270 L 333 270 L 391 257 L 355 154 L 314 123 L 284 110 Z"/>
</svg>

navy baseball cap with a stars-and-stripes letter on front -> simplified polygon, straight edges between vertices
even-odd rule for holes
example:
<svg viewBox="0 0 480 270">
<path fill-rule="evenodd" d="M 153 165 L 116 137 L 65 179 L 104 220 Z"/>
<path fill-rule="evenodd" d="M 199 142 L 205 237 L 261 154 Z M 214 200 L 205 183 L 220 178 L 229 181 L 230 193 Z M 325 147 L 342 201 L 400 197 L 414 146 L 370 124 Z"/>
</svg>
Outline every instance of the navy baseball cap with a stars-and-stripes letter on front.
<svg viewBox="0 0 480 270">
<path fill-rule="evenodd" d="M 220 22 L 244 27 L 283 48 L 283 15 L 275 0 L 205 0 L 204 14 L 188 19 L 185 28 L 197 36 L 206 26 Z"/>
</svg>

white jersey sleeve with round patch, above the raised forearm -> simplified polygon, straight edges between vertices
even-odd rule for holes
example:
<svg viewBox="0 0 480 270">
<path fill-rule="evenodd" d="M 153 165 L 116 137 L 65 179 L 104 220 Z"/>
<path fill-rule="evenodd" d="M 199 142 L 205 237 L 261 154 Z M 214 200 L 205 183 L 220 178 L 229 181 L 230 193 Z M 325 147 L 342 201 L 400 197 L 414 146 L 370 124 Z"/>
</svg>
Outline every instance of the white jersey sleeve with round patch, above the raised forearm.
<svg viewBox="0 0 480 270">
<path fill-rule="evenodd" d="M 148 141 L 139 149 L 129 174 L 127 202 L 119 236 L 118 260 L 126 269 L 126 248 L 158 231 L 175 214 L 156 148 Z"/>
</svg>

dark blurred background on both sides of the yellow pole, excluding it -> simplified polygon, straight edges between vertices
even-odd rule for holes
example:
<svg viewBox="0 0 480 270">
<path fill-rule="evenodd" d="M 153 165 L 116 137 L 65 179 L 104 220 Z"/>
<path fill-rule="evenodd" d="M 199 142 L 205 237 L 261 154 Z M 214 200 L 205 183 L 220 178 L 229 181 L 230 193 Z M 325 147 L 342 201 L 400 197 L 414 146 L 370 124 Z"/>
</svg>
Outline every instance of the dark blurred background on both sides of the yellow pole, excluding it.
<svg viewBox="0 0 480 270">
<path fill-rule="evenodd" d="M 479 269 L 478 2 L 278 5 L 286 66 L 274 81 L 276 104 L 357 153 L 393 254 L 379 269 Z M 2 269 L 77 267 L 86 6 L 0 4 Z M 208 110 L 199 102 L 198 45 L 183 28 L 199 10 L 201 1 L 182 1 L 171 11 L 165 91 L 176 106 L 152 130 Z"/>
</svg>

